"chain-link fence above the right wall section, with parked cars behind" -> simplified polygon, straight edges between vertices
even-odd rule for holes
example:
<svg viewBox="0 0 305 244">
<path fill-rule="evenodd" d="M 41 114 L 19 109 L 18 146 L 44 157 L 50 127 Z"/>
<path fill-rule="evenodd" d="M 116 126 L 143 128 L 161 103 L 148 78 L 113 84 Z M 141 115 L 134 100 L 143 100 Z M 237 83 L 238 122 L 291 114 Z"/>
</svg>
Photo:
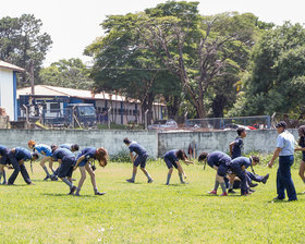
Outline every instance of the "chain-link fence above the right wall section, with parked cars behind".
<svg viewBox="0 0 305 244">
<path fill-rule="evenodd" d="M 185 126 L 203 130 L 234 130 L 239 126 L 245 126 L 248 130 L 264 130 L 271 127 L 271 119 L 269 115 L 193 119 L 186 120 Z"/>
</svg>

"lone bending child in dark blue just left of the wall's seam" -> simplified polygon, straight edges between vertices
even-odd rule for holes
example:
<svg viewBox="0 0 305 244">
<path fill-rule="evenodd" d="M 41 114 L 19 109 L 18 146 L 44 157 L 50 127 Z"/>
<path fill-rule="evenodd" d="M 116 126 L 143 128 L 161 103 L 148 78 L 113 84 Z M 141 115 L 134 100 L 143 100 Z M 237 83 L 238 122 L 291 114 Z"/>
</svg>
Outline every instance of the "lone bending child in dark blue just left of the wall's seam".
<svg viewBox="0 0 305 244">
<path fill-rule="evenodd" d="M 146 149 L 143 146 L 141 146 L 138 143 L 131 142 L 129 138 L 124 138 L 123 143 L 129 147 L 130 157 L 133 162 L 133 175 L 131 179 L 127 179 L 126 182 L 134 183 L 137 167 L 141 166 L 141 170 L 147 176 L 147 182 L 151 183 L 154 179 L 149 175 L 148 171 L 145 169 L 146 160 L 148 158 L 148 154 Z M 133 155 L 133 152 L 135 154 L 135 156 Z"/>
</svg>

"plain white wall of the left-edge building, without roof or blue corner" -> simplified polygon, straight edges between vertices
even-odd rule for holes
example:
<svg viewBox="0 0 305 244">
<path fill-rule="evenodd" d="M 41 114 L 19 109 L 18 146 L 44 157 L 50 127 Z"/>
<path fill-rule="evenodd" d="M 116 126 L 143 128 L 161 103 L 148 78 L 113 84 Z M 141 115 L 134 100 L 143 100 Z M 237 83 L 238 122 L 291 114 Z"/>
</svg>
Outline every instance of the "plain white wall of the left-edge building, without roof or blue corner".
<svg viewBox="0 0 305 244">
<path fill-rule="evenodd" d="M 0 69 L 0 107 L 5 108 L 10 120 L 14 120 L 13 71 Z"/>
</svg>

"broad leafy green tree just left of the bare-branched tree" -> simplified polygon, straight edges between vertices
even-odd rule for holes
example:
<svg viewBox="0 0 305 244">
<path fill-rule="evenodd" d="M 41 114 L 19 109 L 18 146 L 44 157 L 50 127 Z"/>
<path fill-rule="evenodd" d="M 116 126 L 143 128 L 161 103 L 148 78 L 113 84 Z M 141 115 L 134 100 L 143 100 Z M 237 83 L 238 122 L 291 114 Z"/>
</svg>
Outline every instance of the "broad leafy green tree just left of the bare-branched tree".
<svg viewBox="0 0 305 244">
<path fill-rule="evenodd" d="M 180 86 L 178 78 L 166 70 L 156 56 L 143 49 L 138 34 L 126 28 L 137 17 L 138 14 L 109 16 L 101 24 L 107 36 L 88 46 L 85 53 L 95 59 L 91 77 L 96 90 L 117 91 L 138 99 L 142 114 L 148 110 L 148 121 L 151 121 L 156 96 L 171 94 Z"/>
</svg>

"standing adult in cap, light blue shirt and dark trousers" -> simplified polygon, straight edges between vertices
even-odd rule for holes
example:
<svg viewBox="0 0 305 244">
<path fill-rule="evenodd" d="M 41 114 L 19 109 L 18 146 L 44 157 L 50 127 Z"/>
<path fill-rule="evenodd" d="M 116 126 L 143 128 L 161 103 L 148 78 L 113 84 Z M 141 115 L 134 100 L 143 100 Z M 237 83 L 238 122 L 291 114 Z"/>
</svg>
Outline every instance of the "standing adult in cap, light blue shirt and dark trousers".
<svg viewBox="0 0 305 244">
<path fill-rule="evenodd" d="M 285 190 L 289 200 L 297 200 L 295 187 L 291 178 L 295 139 L 293 135 L 285 130 L 286 123 L 284 121 L 280 121 L 276 127 L 279 133 L 277 148 L 272 159 L 268 162 L 268 167 L 272 168 L 276 159 L 279 157 L 279 169 L 277 173 L 278 196 L 274 200 L 283 200 L 285 198 Z"/>
</svg>

